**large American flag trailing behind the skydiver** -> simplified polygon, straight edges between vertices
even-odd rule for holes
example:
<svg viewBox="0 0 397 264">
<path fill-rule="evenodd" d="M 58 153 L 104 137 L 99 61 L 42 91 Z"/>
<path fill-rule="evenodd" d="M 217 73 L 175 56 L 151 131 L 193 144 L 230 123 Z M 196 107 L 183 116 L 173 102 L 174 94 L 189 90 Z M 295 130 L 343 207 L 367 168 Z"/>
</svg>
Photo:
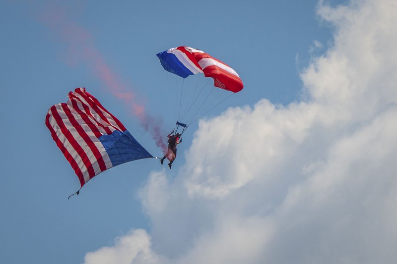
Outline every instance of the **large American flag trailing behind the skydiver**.
<svg viewBox="0 0 397 264">
<path fill-rule="evenodd" d="M 51 106 L 46 125 L 81 187 L 111 167 L 153 158 L 85 88 L 75 89 L 68 97 L 66 104 Z"/>
</svg>

